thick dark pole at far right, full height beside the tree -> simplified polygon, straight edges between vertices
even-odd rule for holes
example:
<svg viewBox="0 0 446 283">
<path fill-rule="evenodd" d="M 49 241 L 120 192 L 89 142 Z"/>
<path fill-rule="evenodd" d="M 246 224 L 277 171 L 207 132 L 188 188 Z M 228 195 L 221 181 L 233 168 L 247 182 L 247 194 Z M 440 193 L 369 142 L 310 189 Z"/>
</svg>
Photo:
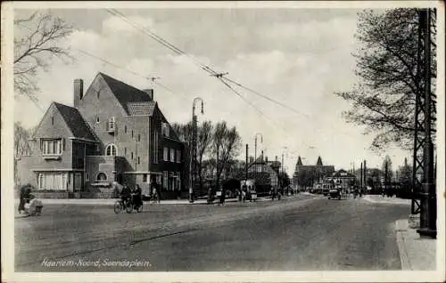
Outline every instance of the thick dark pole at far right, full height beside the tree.
<svg viewBox="0 0 446 283">
<path fill-rule="evenodd" d="M 436 192 L 434 185 L 434 143 L 431 137 L 432 101 L 431 101 L 431 12 L 424 9 L 420 12 L 420 22 L 425 30 L 425 144 L 423 159 L 425 163 L 423 191 L 420 199 L 420 236 L 436 238 Z"/>
</svg>

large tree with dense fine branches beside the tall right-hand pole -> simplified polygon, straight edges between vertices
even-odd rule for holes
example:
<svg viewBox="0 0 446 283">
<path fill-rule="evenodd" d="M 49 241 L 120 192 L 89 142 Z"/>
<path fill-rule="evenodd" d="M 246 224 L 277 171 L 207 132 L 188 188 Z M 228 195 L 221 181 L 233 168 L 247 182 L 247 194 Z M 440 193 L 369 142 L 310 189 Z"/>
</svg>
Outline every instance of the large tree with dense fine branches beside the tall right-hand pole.
<svg viewBox="0 0 446 283">
<path fill-rule="evenodd" d="M 359 84 L 350 92 L 335 94 L 352 102 L 351 110 L 343 113 L 348 122 L 365 125 L 366 133 L 376 134 L 371 145 L 374 150 L 391 142 L 404 149 L 413 147 L 415 98 L 422 93 L 417 68 L 418 12 L 394 9 L 359 13 L 356 38 L 362 47 L 354 54 Z M 435 36 L 435 17 L 433 29 Z M 434 83 L 434 38 L 432 49 Z"/>
</svg>

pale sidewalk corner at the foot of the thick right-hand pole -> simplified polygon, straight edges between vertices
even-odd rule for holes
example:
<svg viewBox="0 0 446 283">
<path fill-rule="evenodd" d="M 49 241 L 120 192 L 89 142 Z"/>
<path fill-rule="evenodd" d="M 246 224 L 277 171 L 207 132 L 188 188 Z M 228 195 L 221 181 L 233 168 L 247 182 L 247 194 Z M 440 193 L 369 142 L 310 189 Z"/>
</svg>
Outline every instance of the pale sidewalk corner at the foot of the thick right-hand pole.
<svg viewBox="0 0 446 283">
<path fill-rule="evenodd" d="M 421 239 L 416 229 L 409 228 L 408 219 L 395 223 L 396 241 L 403 271 L 435 271 L 436 239 Z"/>
</svg>

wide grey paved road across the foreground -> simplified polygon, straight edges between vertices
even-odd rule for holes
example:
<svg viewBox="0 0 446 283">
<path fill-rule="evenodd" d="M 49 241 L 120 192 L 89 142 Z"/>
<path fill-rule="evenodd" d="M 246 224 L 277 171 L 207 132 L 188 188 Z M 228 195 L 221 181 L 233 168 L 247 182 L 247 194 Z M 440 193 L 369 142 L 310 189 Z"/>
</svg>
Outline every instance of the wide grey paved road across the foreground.
<svg viewBox="0 0 446 283">
<path fill-rule="evenodd" d="M 16 219 L 17 271 L 401 270 L 393 225 L 409 213 L 407 206 L 309 196 L 151 206 L 142 214 L 45 208 L 43 216 Z M 70 266 L 42 264 L 57 259 Z M 105 266 L 126 260 L 141 266 Z"/>
</svg>

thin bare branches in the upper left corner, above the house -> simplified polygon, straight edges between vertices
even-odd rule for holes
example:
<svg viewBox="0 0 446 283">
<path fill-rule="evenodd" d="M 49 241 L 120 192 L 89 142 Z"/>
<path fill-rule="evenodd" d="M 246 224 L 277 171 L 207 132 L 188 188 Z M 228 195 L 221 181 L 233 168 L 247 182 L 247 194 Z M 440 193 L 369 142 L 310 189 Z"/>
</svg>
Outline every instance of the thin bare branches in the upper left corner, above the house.
<svg viewBox="0 0 446 283">
<path fill-rule="evenodd" d="M 65 62 L 72 59 L 61 44 L 72 27 L 51 13 L 34 12 L 29 18 L 14 20 L 14 28 L 14 89 L 36 101 L 37 72 L 48 70 L 54 57 Z"/>
</svg>

